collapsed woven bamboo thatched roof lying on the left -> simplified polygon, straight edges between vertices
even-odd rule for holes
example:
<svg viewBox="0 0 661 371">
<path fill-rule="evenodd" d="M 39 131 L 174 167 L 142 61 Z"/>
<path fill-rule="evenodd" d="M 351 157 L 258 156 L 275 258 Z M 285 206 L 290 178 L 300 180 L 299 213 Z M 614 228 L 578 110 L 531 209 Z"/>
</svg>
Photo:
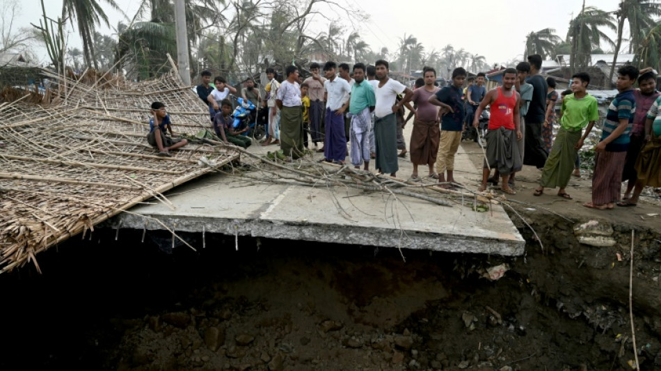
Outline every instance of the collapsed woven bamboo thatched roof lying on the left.
<svg viewBox="0 0 661 371">
<path fill-rule="evenodd" d="M 175 133 L 209 125 L 207 108 L 176 72 L 140 83 L 97 81 L 60 79 L 57 104 L 0 105 L 0 273 L 26 262 L 39 269 L 40 251 L 214 171 L 198 165 L 202 156 L 216 167 L 238 158 L 208 144 L 161 158 L 148 145 L 156 100 L 166 104 Z"/>
</svg>

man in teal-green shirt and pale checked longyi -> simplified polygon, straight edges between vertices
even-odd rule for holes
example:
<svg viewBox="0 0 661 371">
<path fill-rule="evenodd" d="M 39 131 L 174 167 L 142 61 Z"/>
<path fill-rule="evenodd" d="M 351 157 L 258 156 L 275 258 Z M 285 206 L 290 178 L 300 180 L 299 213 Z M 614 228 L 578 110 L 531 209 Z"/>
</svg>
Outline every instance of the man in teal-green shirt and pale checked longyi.
<svg viewBox="0 0 661 371">
<path fill-rule="evenodd" d="M 349 100 L 349 113 L 351 113 L 351 164 L 360 168 L 365 162 L 365 170 L 369 170 L 369 124 L 371 112 L 376 105 L 374 88 L 365 81 L 365 65 L 353 65 L 353 79 Z"/>
</svg>

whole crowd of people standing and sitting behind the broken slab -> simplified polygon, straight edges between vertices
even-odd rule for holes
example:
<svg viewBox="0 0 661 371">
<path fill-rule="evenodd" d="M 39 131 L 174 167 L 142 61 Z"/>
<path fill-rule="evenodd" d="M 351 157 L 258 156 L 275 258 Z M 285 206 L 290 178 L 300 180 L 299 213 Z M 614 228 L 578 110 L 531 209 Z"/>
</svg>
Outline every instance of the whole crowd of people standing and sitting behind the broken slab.
<svg viewBox="0 0 661 371">
<path fill-rule="evenodd" d="M 502 84 L 488 91 L 484 73 L 468 77 L 463 68 L 454 69 L 449 84 L 438 87 L 436 70 L 425 67 L 411 90 L 389 77 L 388 61 L 356 63 L 352 68 L 333 61 L 323 66 L 311 63 L 307 79 L 290 65 L 282 81 L 273 68 L 266 70 L 265 97 L 253 79 L 245 81 L 240 95 L 268 110 L 262 145 L 279 144 L 285 161 L 313 150 L 324 153 L 321 161 L 344 165 L 349 157 L 354 167 L 365 170 L 374 160 L 376 171 L 395 177 L 398 158 L 408 152 L 413 163 L 410 180 L 420 181 L 418 167 L 428 166 L 427 176 L 445 188 L 456 185 L 454 157 L 463 134 L 477 128 L 481 114 L 489 109 L 478 191 L 500 182 L 504 193 L 515 194 L 516 173 L 528 165 L 541 171 L 534 196 L 557 187 L 557 196 L 571 199 L 566 187 L 572 175 L 580 176 L 578 150 L 599 120 L 597 100 L 587 93 L 589 74 L 573 74 L 568 90 L 558 93 L 555 79 L 541 76 L 541 62 L 539 55 L 527 56 L 527 62 L 502 71 Z M 237 89 L 223 77 L 216 77 L 212 86 L 211 77 L 210 72 L 202 72 L 197 92 L 209 106 L 214 131 L 225 143 L 247 148 L 251 140 L 242 135 L 247 129 L 231 125 L 233 105 L 228 97 Z M 618 94 L 608 106 L 595 147 L 592 200 L 584 204 L 598 210 L 635 206 L 644 187 L 661 187 L 661 97 L 656 72 L 625 65 L 618 70 L 616 88 Z M 556 116 L 558 103 L 561 109 Z M 404 107 L 410 111 L 408 118 Z M 149 143 L 159 156 L 169 156 L 170 150 L 186 144 L 185 139 L 175 138 L 161 103 L 154 102 L 152 114 Z M 411 118 L 407 150 L 403 129 Z M 555 123 L 559 129 L 554 138 Z M 628 181 L 623 198 L 622 181 Z"/>
</svg>

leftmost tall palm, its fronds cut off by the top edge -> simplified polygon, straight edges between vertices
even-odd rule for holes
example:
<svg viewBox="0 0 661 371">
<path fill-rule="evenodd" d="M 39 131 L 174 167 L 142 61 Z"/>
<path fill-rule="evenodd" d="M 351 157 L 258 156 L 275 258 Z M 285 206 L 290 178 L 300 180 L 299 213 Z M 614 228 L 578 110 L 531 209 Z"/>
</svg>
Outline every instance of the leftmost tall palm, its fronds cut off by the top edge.
<svg viewBox="0 0 661 371">
<path fill-rule="evenodd" d="M 115 0 L 103 0 L 114 10 L 120 10 Z M 94 56 L 94 42 L 92 35 L 95 27 L 103 21 L 107 26 L 110 26 L 108 16 L 104 12 L 101 4 L 97 0 L 64 0 L 62 3 L 62 18 L 69 18 L 72 21 L 76 19 L 78 25 L 78 33 L 83 39 L 83 58 L 88 67 L 96 70 L 99 65 Z"/>
</svg>

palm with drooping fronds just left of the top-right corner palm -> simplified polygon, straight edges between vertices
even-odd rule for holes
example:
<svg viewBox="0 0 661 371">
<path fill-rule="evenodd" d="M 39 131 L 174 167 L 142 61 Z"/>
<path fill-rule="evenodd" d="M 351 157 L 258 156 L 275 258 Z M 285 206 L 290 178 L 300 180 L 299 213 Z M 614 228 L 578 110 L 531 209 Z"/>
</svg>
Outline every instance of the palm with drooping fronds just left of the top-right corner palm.
<svg viewBox="0 0 661 371">
<path fill-rule="evenodd" d="M 580 13 L 569 22 L 567 40 L 571 42 L 570 74 L 575 67 L 587 67 L 593 48 L 599 47 L 602 41 L 614 46 L 615 43 L 600 29 L 606 27 L 616 31 L 617 27 L 609 13 L 594 6 L 583 8 Z"/>
</svg>

